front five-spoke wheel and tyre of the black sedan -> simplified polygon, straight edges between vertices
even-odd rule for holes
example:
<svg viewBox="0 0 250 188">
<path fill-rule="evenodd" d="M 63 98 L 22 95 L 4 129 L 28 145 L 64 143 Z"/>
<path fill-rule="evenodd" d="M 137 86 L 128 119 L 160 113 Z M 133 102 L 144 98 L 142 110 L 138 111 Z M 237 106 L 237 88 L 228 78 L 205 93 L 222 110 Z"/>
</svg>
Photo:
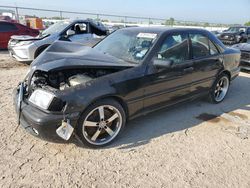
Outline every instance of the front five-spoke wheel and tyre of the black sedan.
<svg viewBox="0 0 250 188">
<path fill-rule="evenodd" d="M 122 106 L 115 100 L 104 99 L 88 107 L 78 124 L 78 135 L 90 147 L 111 143 L 122 131 L 126 116 Z"/>
</svg>

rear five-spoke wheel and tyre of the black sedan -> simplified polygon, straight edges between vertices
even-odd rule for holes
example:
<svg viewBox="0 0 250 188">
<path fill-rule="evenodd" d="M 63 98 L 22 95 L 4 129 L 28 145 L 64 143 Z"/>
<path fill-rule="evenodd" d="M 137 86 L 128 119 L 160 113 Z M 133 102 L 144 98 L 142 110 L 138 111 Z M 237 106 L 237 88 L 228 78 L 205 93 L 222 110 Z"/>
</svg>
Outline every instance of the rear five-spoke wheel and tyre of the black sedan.
<svg viewBox="0 0 250 188">
<path fill-rule="evenodd" d="M 210 93 L 209 99 L 212 103 L 220 103 L 222 102 L 228 92 L 230 85 L 229 77 L 226 74 L 221 74 L 217 80 L 214 82 Z"/>
</svg>

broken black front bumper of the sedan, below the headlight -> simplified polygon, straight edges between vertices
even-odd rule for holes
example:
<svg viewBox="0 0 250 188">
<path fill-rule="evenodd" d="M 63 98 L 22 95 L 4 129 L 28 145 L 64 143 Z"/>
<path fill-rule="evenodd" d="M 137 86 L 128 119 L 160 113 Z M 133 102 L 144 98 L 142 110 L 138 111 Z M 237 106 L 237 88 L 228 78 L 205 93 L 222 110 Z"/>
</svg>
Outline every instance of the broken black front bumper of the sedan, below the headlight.
<svg viewBox="0 0 250 188">
<path fill-rule="evenodd" d="M 56 130 L 62 125 L 65 118 L 63 113 L 53 114 L 46 113 L 31 104 L 23 101 L 19 107 L 19 89 L 14 89 L 13 100 L 16 109 L 16 113 L 20 125 L 33 136 L 42 138 L 44 140 L 61 142 L 63 139 L 58 136 Z M 78 120 L 78 114 L 68 114 L 70 122 L 73 127 L 76 126 Z"/>
</svg>

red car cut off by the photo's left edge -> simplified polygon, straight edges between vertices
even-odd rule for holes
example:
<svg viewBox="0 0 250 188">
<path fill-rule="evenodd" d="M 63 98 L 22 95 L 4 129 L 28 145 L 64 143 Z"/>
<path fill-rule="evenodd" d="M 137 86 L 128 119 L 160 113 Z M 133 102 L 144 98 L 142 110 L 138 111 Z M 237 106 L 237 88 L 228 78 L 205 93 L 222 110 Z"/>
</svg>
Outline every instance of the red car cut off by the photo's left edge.
<svg viewBox="0 0 250 188">
<path fill-rule="evenodd" d="M 0 49 L 8 48 L 8 42 L 13 35 L 37 36 L 39 31 L 19 23 L 0 21 Z"/>
</svg>

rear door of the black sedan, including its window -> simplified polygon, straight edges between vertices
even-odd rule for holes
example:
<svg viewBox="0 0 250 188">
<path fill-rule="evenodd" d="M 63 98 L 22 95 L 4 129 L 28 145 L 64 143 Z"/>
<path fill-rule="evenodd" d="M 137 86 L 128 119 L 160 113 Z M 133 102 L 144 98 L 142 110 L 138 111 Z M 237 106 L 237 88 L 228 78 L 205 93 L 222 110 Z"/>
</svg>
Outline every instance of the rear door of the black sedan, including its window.
<svg viewBox="0 0 250 188">
<path fill-rule="evenodd" d="M 216 45 L 201 33 L 190 33 L 191 56 L 194 62 L 192 94 L 209 91 L 218 72 L 223 68 L 223 56 Z"/>
</svg>

